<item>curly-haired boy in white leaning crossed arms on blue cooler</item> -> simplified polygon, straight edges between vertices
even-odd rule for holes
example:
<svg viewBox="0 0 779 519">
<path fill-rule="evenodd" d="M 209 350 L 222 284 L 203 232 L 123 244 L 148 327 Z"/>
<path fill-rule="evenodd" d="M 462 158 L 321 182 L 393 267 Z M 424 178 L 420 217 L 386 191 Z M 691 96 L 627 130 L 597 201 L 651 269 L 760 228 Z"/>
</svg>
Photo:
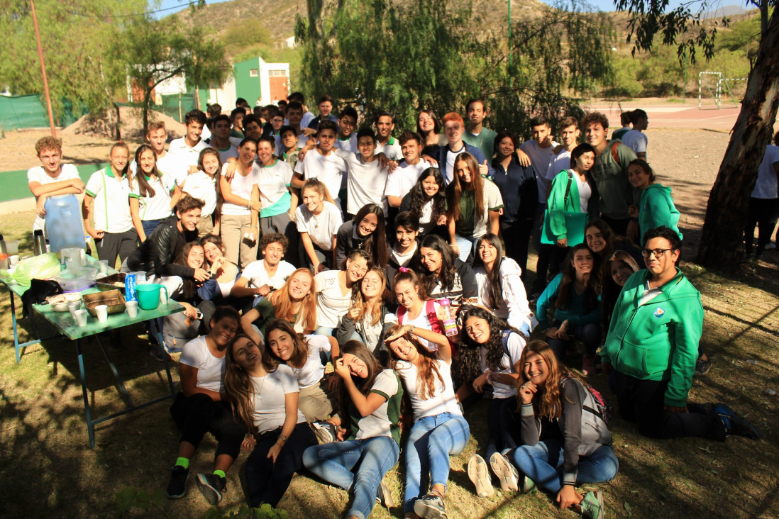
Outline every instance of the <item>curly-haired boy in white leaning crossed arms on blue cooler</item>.
<svg viewBox="0 0 779 519">
<path fill-rule="evenodd" d="M 41 166 L 27 170 L 27 185 L 35 196 L 35 222 L 33 230 L 46 229 L 46 200 L 51 196 L 78 195 L 84 192 L 79 170 L 72 164 L 62 164 L 62 142 L 54 137 L 43 137 L 35 143 L 35 151 Z"/>
</svg>

